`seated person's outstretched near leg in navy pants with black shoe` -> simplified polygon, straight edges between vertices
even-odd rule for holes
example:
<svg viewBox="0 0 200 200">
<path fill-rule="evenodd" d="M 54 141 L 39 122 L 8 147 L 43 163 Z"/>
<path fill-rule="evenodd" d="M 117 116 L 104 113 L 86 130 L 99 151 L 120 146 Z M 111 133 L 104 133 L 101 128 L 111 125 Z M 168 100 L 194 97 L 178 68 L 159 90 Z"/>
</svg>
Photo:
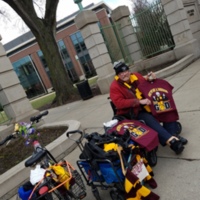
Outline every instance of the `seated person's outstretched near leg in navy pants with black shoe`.
<svg viewBox="0 0 200 200">
<path fill-rule="evenodd" d="M 147 126 L 157 131 L 159 142 L 162 146 L 168 144 L 176 154 L 183 151 L 184 147 L 181 141 L 172 136 L 151 114 L 142 111 L 138 114 L 137 119 L 144 120 Z"/>
</svg>

